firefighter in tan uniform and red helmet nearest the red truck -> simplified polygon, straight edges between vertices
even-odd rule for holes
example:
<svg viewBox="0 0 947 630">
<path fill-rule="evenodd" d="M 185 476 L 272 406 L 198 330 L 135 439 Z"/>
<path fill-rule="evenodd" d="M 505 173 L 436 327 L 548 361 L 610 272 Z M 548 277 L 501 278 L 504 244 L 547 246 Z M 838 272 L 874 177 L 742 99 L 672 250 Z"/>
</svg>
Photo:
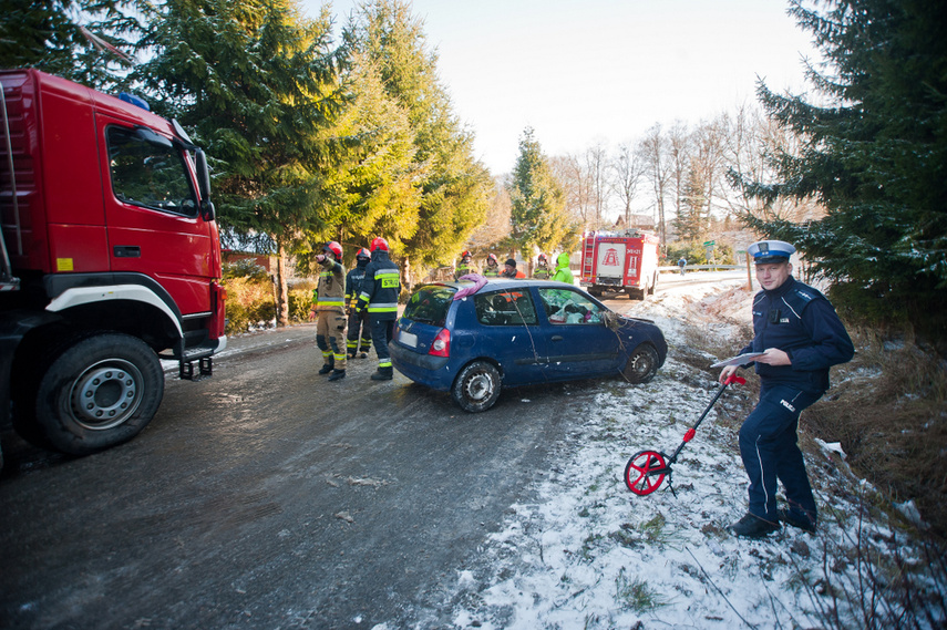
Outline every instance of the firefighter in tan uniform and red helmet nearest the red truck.
<svg viewBox="0 0 947 630">
<path fill-rule="evenodd" d="M 334 240 L 316 257 L 322 265 L 316 287 L 316 345 L 322 351 L 319 373 L 332 372 L 330 381 L 346 378 L 346 268 L 341 259 L 342 246 Z"/>
</svg>

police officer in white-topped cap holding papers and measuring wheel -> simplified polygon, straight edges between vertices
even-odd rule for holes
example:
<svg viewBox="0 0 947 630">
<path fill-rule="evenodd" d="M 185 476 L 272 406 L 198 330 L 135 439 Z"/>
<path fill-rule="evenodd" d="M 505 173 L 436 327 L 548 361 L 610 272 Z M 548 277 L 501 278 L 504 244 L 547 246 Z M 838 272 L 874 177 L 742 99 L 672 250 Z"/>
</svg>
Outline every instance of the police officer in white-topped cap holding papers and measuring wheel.
<svg viewBox="0 0 947 630">
<path fill-rule="evenodd" d="M 748 251 L 763 290 L 753 298 L 753 341 L 740 354 L 763 354 L 755 359 L 760 401 L 743 421 L 739 440 L 750 477 L 750 509 L 729 529 L 759 538 L 782 520 L 815 531 L 815 500 L 796 444 L 799 415 L 828 389 L 828 368 L 851 361 L 855 349 L 825 296 L 792 277 L 792 245 L 761 240 Z M 720 382 L 737 370 L 725 366 Z M 778 479 L 786 508 L 776 509 Z"/>
</svg>

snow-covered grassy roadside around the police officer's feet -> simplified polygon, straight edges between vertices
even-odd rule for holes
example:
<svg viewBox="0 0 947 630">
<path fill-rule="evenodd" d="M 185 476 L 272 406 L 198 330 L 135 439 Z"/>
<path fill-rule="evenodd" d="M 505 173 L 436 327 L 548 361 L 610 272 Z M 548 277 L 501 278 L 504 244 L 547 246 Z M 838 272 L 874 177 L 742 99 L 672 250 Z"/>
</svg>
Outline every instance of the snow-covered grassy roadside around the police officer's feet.
<svg viewBox="0 0 947 630">
<path fill-rule="evenodd" d="M 837 445 L 806 458 L 816 535 L 727 533 L 747 507 L 735 435 L 745 391 L 729 389 L 683 450 L 676 495 L 667 481 L 644 497 L 626 487 L 628 458 L 672 453 L 712 399 L 713 373 L 677 357 L 688 326 L 727 339 L 749 321 L 752 295 L 740 283 L 669 290 L 629 307 L 665 331 L 668 362 L 646 385 L 603 383 L 577 414 L 572 442 L 554 447 L 557 464 L 528 495 L 535 502 L 511 506 L 502 529 L 445 585 L 442 610 L 455 628 L 862 628 L 866 609 L 898 610 L 897 591 L 885 587 L 905 575 L 918 600 L 943 601 L 945 585 L 925 576 L 920 546 L 869 507 L 881 497 L 852 475 Z M 902 627 L 936 627 L 939 610 L 933 622 Z"/>
</svg>

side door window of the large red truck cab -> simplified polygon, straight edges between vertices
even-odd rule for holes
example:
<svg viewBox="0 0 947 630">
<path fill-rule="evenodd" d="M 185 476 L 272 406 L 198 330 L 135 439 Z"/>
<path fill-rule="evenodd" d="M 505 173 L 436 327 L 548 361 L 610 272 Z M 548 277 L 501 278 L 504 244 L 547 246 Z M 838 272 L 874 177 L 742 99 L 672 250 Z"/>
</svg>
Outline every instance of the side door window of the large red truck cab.
<svg viewBox="0 0 947 630">
<path fill-rule="evenodd" d="M 106 132 L 112 190 L 126 204 L 196 216 L 197 203 L 178 149 L 148 143 L 133 130 Z M 171 143 L 168 143 L 171 144 Z"/>
</svg>

